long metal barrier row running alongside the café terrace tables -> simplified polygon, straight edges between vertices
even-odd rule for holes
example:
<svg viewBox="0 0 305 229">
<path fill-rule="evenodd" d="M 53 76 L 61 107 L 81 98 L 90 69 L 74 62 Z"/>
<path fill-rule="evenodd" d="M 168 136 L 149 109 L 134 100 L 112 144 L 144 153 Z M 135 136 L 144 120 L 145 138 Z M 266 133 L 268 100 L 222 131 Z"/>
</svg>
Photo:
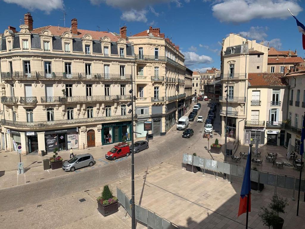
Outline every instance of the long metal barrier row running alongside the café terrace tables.
<svg viewBox="0 0 305 229">
<path fill-rule="evenodd" d="M 245 168 L 242 165 L 216 161 L 210 158 L 193 156 L 191 154 L 183 154 L 182 167 L 183 164 L 200 167 L 202 169 L 203 174 L 206 173 L 206 170 L 209 170 L 214 174 L 216 173 L 215 174 L 216 176 L 218 176 L 218 173 L 222 173 L 222 174 L 225 173 L 229 175 L 227 176 L 229 182 L 231 182 L 231 176 L 243 178 L 245 173 Z M 292 199 L 294 199 L 294 192 L 299 189 L 299 178 L 295 178 L 294 176 L 288 176 L 283 174 L 275 174 L 275 173 L 251 169 L 251 181 L 256 182 L 258 187 L 259 184 L 273 186 L 275 194 L 277 188 L 285 188 L 288 190 L 293 190 Z M 304 178 L 301 179 L 301 191 L 305 192 Z"/>
</svg>

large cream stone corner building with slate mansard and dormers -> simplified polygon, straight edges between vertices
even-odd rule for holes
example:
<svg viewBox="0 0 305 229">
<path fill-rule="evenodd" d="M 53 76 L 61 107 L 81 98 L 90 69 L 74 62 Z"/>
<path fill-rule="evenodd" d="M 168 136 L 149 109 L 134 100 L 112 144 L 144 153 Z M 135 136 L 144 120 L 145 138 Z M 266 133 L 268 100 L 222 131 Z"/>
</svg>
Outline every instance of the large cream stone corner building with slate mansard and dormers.
<svg viewBox="0 0 305 229">
<path fill-rule="evenodd" d="M 23 154 L 130 138 L 134 47 L 121 34 L 45 26 L 30 13 L 1 36 L 1 148 Z"/>
</svg>

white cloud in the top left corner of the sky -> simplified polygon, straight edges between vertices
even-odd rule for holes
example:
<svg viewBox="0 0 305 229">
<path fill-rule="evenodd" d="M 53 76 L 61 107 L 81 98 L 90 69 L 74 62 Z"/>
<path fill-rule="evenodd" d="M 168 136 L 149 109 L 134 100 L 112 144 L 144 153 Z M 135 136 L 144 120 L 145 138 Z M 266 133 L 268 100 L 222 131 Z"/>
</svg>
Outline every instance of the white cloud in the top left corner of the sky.
<svg viewBox="0 0 305 229">
<path fill-rule="evenodd" d="M 45 13 L 50 13 L 53 9 L 63 9 L 63 0 L 2 0 L 6 3 L 15 3 L 21 7 L 29 10 L 39 9 L 45 11 Z"/>
</svg>

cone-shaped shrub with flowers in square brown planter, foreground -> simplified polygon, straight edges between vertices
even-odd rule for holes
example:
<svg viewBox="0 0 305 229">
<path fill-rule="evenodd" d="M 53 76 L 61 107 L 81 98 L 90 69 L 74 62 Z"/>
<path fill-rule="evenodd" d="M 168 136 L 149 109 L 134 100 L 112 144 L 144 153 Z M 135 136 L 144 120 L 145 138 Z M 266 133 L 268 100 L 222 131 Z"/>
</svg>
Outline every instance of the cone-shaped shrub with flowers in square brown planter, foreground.
<svg viewBox="0 0 305 229">
<path fill-rule="evenodd" d="M 97 199 L 98 210 L 103 216 L 111 215 L 118 211 L 117 197 L 113 196 L 108 185 L 104 186 L 102 195 Z"/>
</svg>

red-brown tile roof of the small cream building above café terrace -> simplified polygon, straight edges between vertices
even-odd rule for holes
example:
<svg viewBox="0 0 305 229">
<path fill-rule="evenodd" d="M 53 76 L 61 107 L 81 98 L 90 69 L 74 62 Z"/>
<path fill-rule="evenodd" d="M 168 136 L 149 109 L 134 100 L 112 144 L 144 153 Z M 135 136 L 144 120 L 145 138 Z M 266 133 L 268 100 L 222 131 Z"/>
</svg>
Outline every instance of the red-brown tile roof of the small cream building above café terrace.
<svg viewBox="0 0 305 229">
<path fill-rule="evenodd" d="M 287 86 L 283 73 L 249 73 L 251 86 Z"/>
</svg>

